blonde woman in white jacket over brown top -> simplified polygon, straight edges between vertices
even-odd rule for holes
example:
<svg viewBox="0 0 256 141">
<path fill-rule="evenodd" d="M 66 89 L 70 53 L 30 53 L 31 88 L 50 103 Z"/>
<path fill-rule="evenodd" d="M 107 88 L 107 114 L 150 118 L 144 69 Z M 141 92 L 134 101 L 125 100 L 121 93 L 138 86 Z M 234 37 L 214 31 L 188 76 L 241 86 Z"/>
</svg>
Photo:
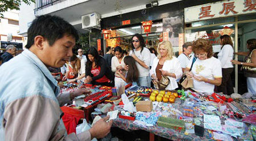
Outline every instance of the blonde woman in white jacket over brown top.
<svg viewBox="0 0 256 141">
<path fill-rule="evenodd" d="M 181 77 L 182 69 L 179 60 L 174 56 L 171 42 L 160 42 L 157 52 L 158 56 L 154 59 L 150 70 L 152 81 L 158 82 L 164 75 L 170 79 L 166 89 L 176 89 L 178 87 L 176 80 Z"/>
</svg>

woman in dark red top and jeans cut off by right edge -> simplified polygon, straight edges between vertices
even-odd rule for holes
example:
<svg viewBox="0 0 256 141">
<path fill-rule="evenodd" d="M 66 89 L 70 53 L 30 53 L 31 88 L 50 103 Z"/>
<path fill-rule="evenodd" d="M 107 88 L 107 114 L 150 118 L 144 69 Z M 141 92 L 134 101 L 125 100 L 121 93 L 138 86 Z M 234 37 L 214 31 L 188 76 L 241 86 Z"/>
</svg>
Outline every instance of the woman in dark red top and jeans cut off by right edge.
<svg viewBox="0 0 256 141">
<path fill-rule="evenodd" d="M 236 53 L 239 55 L 246 55 L 245 62 L 232 60 L 233 64 L 242 65 L 243 73 L 247 78 L 247 90 L 249 93 L 256 96 L 256 39 L 249 39 L 246 41 L 249 52 Z"/>
</svg>

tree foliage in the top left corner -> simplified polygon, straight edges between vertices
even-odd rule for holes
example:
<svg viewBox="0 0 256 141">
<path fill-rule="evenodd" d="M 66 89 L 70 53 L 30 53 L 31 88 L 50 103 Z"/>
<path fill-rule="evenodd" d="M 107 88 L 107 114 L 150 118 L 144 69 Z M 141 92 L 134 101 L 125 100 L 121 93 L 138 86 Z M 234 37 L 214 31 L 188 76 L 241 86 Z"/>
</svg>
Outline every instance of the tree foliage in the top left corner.
<svg viewBox="0 0 256 141">
<path fill-rule="evenodd" d="M 35 3 L 35 0 L 0 0 L 0 16 L 3 18 L 3 12 L 10 10 L 19 10 L 19 6 L 24 2 L 30 5 L 31 2 Z"/>
</svg>

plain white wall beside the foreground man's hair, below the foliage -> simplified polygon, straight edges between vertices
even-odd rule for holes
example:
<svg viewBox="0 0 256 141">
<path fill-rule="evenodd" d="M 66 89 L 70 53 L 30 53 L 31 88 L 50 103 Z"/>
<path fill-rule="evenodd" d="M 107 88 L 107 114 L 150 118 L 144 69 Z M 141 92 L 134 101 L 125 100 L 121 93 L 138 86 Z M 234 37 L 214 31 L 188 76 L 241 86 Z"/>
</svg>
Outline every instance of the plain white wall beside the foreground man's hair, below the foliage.
<svg viewBox="0 0 256 141">
<path fill-rule="evenodd" d="M 19 34 L 23 36 L 27 36 L 28 24 L 35 19 L 34 15 L 35 3 L 31 3 L 27 5 L 22 2 L 20 5 L 19 11 Z"/>
</svg>

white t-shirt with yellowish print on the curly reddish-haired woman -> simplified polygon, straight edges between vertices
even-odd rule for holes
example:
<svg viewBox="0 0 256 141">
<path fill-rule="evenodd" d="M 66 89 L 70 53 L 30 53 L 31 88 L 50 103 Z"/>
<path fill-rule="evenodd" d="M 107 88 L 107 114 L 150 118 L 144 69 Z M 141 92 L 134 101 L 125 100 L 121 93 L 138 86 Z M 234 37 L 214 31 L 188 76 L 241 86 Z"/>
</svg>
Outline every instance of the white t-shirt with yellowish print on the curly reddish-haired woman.
<svg viewBox="0 0 256 141">
<path fill-rule="evenodd" d="M 190 69 L 192 65 L 191 59 L 188 63 Z M 213 80 L 214 78 L 222 78 L 221 62 L 217 58 L 211 57 L 209 59 L 196 59 L 192 66 L 191 72 L 195 76 L 204 76 L 207 79 Z M 193 88 L 198 92 L 206 92 L 212 94 L 214 92 L 214 85 L 206 82 L 198 82 L 193 79 Z"/>
</svg>

